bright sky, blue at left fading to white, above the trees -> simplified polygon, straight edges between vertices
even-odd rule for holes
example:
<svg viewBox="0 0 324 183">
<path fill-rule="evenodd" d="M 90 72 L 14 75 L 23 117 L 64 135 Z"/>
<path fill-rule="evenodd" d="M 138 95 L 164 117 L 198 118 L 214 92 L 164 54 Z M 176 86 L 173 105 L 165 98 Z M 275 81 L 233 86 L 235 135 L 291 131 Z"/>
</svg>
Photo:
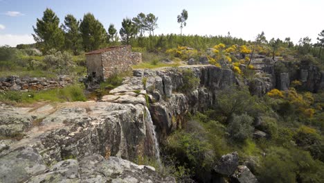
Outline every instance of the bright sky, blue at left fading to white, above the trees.
<svg viewBox="0 0 324 183">
<path fill-rule="evenodd" d="M 33 26 L 51 8 L 64 21 L 67 14 L 82 19 L 93 13 L 107 29 L 114 24 L 119 30 L 125 17 L 152 12 L 159 17 L 154 34 L 180 33 L 177 15 L 188 11 L 185 35 L 227 35 L 254 40 L 264 31 L 272 37 L 316 37 L 324 30 L 324 0 L 0 0 L 0 46 L 29 44 Z"/>
</svg>

